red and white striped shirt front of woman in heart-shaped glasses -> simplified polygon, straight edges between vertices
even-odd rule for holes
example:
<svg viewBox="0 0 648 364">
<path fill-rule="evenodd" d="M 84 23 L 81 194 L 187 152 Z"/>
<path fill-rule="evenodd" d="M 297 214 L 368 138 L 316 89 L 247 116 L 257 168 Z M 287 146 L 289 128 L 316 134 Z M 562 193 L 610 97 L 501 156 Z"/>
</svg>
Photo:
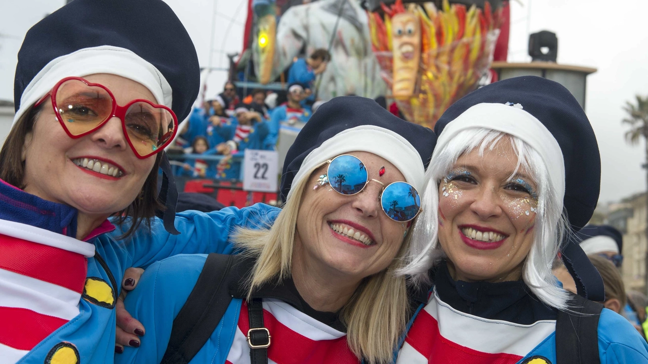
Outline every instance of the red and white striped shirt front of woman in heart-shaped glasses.
<svg viewBox="0 0 648 364">
<path fill-rule="evenodd" d="M 79 314 L 95 245 L 0 220 L 0 361 L 16 363 Z"/>
</svg>

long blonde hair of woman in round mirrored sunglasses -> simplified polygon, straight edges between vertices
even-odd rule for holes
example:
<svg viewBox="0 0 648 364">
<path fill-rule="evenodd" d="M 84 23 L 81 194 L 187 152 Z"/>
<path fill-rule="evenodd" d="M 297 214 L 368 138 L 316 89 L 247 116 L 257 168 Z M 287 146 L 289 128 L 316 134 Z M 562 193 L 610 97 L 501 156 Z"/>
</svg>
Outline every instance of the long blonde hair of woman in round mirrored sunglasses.
<svg viewBox="0 0 648 364">
<path fill-rule="evenodd" d="M 272 227 L 268 224 L 260 229 L 240 228 L 234 234 L 233 242 L 244 249 L 244 254 L 257 258 L 248 280 L 248 299 L 262 284 L 290 277 L 299 205 L 316 169 L 293 185 L 294 192 Z M 405 330 L 409 307 L 405 277 L 395 275 L 394 271 L 401 268 L 400 257 L 407 245 L 405 239 L 388 268 L 362 281 L 340 313 L 341 322 L 347 326 L 349 348 L 369 363 L 391 363 Z"/>
</svg>

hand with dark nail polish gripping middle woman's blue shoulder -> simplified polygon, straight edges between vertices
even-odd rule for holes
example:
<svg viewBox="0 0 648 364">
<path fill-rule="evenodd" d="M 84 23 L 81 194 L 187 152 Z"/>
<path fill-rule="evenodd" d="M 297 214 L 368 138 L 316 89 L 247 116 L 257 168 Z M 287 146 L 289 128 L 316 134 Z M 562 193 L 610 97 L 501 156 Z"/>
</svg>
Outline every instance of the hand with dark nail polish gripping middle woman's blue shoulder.
<svg viewBox="0 0 648 364">
<path fill-rule="evenodd" d="M 133 319 L 130 313 L 126 311 L 126 308 L 124 308 L 124 299 L 126 299 L 126 294 L 128 294 L 128 291 L 132 291 L 137 287 L 137 282 L 139 282 L 143 273 L 144 269 L 134 267 L 126 269 L 126 272 L 124 273 L 122 290 L 117 298 L 117 304 L 115 305 L 115 310 L 117 312 L 115 352 L 117 354 L 124 352 L 124 346 L 139 347 L 139 343 L 141 342 L 139 337 L 144 336 L 145 334 L 144 325 L 136 319 Z"/>
</svg>

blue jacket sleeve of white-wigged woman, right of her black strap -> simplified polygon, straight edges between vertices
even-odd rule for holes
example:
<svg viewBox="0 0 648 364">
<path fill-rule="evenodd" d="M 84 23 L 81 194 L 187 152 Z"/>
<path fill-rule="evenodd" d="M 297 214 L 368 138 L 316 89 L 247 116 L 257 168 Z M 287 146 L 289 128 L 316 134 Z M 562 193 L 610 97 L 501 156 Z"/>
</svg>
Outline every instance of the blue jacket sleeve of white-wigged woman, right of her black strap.
<svg viewBox="0 0 648 364">
<path fill-rule="evenodd" d="M 648 363 L 648 343 L 627 319 L 607 308 L 599 318 L 601 364 Z"/>
</svg>

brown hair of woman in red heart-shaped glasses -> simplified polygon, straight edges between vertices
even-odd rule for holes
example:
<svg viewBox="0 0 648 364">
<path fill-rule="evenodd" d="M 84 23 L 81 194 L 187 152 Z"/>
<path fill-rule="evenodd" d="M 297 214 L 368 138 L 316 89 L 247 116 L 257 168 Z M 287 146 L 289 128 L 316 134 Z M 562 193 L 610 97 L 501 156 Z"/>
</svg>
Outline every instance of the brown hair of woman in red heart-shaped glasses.
<svg viewBox="0 0 648 364">
<path fill-rule="evenodd" d="M 44 104 L 43 104 L 44 105 Z M 43 105 L 31 107 L 17 121 L 16 125 L 9 131 L 5 144 L 0 150 L 0 179 L 6 183 L 24 189 L 23 184 L 25 177 L 25 161 L 22 159 L 23 145 L 25 137 L 34 129 L 34 122 L 40 115 Z M 163 153 L 163 152 L 162 152 Z M 156 162 L 153 169 L 146 177 L 146 181 L 139 196 L 135 198 L 126 209 L 117 211 L 113 216 L 117 216 L 117 224 L 122 224 L 132 218 L 132 224 L 128 231 L 119 238 L 126 238 L 137 230 L 142 222 L 150 228 L 150 218 L 156 216 L 156 210 L 164 210 L 165 207 L 157 200 L 157 170 L 160 165 L 162 153 L 156 155 Z"/>
</svg>

